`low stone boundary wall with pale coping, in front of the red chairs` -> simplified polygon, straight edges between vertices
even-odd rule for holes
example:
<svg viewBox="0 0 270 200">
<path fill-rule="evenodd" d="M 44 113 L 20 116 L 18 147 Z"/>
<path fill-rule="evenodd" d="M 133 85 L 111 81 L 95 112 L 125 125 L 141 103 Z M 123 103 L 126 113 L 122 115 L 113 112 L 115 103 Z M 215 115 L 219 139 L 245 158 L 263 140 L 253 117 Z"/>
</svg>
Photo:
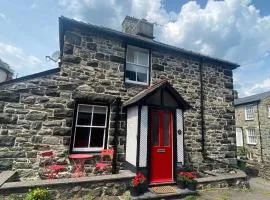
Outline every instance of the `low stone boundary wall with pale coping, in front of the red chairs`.
<svg viewBox="0 0 270 200">
<path fill-rule="evenodd" d="M 53 199 L 120 196 L 128 189 L 134 176 L 132 172 L 123 170 L 119 174 L 106 176 L 10 182 L 0 188 L 0 199 L 22 197 L 34 188 L 46 188 Z"/>
</svg>

